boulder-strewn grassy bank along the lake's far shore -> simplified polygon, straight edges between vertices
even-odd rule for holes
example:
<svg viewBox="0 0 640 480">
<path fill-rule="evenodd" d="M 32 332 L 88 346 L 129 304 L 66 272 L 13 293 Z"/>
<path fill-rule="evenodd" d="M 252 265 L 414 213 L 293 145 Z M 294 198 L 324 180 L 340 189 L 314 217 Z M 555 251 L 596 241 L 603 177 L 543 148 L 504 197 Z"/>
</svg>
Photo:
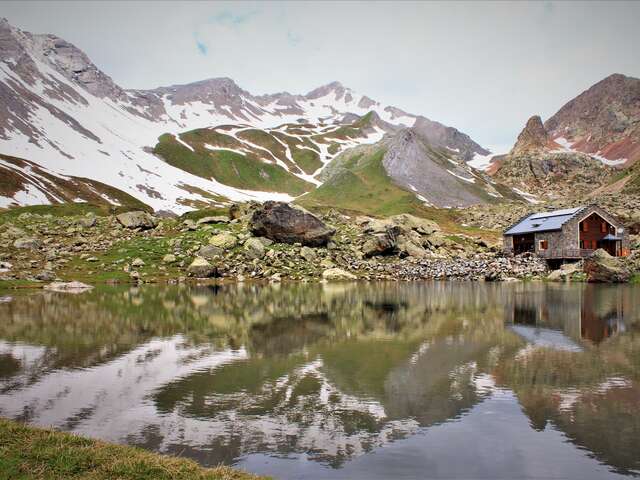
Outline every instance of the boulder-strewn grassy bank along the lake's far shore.
<svg viewBox="0 0 640 480">
<path fill-rule="evenodd" d="M 535 255 L 504 254 L 496 231 L 456 230 L 408 214 L 378 219 L 333 211 L 320 217 L 289 213 L 325 222 L 322 228 L 330 235 L 309 246 L 304 232 L 286 241 L 278 239 L 277 231 L 262 234 L 275 240 L 260 236 L 252 224 L 258 205 L 205 209 L 180 218 L 72 207 L 0 214 L 0 288 L 38 288 L 54 281 L 589 280 L 581 264 L 551 272 Z M 624 278 L 637 281 L 638 250 L 623 269 L 628 272 Z"/>
</svg>

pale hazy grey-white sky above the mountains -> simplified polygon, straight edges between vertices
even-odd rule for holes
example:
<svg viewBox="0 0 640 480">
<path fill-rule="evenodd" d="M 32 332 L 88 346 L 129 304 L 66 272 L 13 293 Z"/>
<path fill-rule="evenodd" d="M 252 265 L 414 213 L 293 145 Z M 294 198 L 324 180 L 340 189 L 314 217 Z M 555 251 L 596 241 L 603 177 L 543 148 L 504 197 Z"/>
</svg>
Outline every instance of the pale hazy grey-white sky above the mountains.
<svg viewBox="0 0 640 480">
<path fill-rule="evenodd" d="M 611 73 L 640 77 L 640 2 L 6 2 L 125 88 L 231 77 L 251 93 L 333 80 L 509 148 Z"/>
</svg>

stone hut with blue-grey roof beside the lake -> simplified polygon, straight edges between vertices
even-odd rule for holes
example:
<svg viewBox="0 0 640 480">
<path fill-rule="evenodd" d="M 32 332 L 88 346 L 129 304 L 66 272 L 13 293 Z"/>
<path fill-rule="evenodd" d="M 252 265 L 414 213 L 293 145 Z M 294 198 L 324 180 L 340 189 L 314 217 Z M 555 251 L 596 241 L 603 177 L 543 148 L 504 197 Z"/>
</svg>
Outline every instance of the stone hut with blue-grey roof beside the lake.
<svg viewBox="0 0 640 480">
<path fill-rule="evenodd" d="M 504 232 L 504 250 L 534 252 L 548 260 L 577 260 L 602 248 L 629 255 L 629 237 L 613 215 L 597 205 L 532 213 Z"/>
</svg>

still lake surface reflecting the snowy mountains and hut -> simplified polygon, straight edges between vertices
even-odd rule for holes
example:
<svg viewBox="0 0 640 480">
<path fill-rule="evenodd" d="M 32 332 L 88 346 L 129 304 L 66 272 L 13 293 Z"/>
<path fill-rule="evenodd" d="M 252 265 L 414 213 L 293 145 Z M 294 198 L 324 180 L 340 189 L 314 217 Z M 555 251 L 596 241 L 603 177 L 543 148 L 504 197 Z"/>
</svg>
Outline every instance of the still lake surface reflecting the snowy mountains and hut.
<svg viewBox="0 0 640 480">
<path fill-rule="evenodd" d="M 18 294 L 0 415 L 278 478 L 640 476 L 640 288 Z"/>
</svg>

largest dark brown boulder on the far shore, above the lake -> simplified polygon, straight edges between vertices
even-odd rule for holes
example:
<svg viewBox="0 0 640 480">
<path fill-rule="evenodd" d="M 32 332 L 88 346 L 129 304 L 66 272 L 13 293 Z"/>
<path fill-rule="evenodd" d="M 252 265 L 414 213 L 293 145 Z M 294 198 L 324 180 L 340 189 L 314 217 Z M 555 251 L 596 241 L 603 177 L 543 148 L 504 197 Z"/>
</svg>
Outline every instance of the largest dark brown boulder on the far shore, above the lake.
<svg viewBox="0 0 640 480">
<path fill-rule="evenodd" d="M 314 215 L 282 202 L 265 202 L 251 216 L 249 228 L 256 236 L 309 247 L 326 245 L 335 233 Z"/>
</svg>

